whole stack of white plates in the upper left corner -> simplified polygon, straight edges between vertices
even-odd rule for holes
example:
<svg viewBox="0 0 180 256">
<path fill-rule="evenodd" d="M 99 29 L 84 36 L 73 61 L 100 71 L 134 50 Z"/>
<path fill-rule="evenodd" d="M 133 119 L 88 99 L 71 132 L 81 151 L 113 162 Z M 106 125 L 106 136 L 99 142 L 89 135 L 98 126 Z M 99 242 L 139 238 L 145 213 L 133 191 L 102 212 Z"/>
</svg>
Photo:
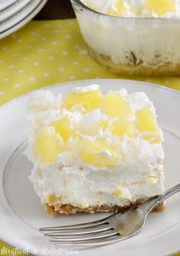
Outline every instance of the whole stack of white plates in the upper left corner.
<svg viewBox="0 0 180 256">
<path fill-rule="evenodd" d="M 43 8 L 47 0 L 0 0 L 0 38 L 18 30 Z"/>
</svg>

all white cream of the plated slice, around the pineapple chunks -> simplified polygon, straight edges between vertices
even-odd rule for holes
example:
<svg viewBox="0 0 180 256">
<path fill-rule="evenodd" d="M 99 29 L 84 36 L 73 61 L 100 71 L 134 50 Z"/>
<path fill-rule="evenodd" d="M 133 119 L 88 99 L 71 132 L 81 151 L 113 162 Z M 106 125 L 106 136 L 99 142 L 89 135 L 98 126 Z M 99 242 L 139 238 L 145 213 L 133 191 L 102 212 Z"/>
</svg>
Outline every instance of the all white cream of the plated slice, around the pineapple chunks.
<svg viewBox="0 0 180 256">
<path fill-rule="evenodd" d="M 95 90 L 95 87 L 98 86 L 76 87 L 75 91 L 85 92 L 90 88 Z M 120 90 L 119 94 L 127 100 L 132 112 L 148 106 L 156 117 L 153 103 L 146 94 L 127 94 L 125 89 Z M 50 92 L 40 90 L 31 97 L 28 105 L 31 130 L 27 156 L 34 162 L 30 180 L 42 203 L 48 203 L 49 197 L 54 195 L 59 198 L 59 203 L 72 204 L 80 208 L 103 204 L 123 206 L 128 202 L 161 194 L 164 191 L 162 144 L 150 143 L 142 138 L 143 134 L 152 133 L 140 133 L 135 138 L 125 136 L 124 140 L 121 140 L 112 135 L 110 130 L 105 133 L 102 130 L 96 131 L 92 136 L 98 139 L 108 137 L 108 140 L 117 147 L 121 155 L 117 166 L 97 168 L 82 162 L 79 159 L 80 143 L 77 138 L 68 140 L 67 151 L 60 153 L 56 162 L 49 164 L 37 162 L 32 153 L 32 145 L 34 130 L 38 127 L 48 125 L 62 115 L 66 115 L 71 119 L 74 127 L 81 125 L 87 131 L 91 129 L 91 125 L 106 116 L 98 109 L 85 114 L 81 106 L 74 111 L 63 110 L 61 99 L 61 94 L 55 97 Z M 130 118 L 133 118 L 133 115 Z M 160 129 L 153 134 L 158 134 L 162 138 Z M 99 154 L 103 156 L 109 153 L 102 151 Z"/>
</svg>

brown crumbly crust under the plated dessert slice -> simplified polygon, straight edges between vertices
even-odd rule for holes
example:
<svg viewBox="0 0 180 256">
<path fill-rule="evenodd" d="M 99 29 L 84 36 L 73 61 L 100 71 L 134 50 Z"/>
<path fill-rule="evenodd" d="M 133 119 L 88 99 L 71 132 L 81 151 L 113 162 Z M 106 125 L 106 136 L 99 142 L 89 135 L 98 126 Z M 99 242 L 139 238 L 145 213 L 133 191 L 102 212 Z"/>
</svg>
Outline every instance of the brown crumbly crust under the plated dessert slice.
<svg viewBox="0 0 180 256">
<path fill-rule="evenodd" d="M 47 211 L 47 215 L 50 217 L 53 217 L 56 214 L 65 214 L 65 215 L 72 215 L 76 214 L 77 212 L 86 212 L 86 213 L 96 213 L 96 212 L 125 212 L 129 210 L 130 208 L 135 208 L 138 205 L 141 205 L 143 201 L 137 201 L 133 202 L 131 204 L 127 204 L 123 207 L 114 205 L 114 206 L 109 206 L 109 205 L 96 205 L 88 208 L 79 208 L 70 204 L 66 205 L 48 205 L 44 204 L 44 208 Z M 153 212 L 162 212 L 164 209 L 164 204 L 161 203 L 156 206 L 156 208 L 153 209 Z"/>
</svg>

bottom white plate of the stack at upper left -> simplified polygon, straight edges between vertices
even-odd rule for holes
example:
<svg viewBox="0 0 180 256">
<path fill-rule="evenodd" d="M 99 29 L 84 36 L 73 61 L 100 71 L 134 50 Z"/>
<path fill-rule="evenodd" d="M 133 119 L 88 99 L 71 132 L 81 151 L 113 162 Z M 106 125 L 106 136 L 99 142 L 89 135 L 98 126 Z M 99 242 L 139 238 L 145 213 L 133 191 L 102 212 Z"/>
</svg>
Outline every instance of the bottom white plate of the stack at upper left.
<svg viewBox="0 0 180 256">
<path fill-rule="evenodd" d="M 43 8 L 47 0 L 31 0 L 16 14 L 0 22 L 0 39 L 5 38 L 8 34 L 17 31 L 28 21 L 31 21 L 35 15 Z"/>
</svg>

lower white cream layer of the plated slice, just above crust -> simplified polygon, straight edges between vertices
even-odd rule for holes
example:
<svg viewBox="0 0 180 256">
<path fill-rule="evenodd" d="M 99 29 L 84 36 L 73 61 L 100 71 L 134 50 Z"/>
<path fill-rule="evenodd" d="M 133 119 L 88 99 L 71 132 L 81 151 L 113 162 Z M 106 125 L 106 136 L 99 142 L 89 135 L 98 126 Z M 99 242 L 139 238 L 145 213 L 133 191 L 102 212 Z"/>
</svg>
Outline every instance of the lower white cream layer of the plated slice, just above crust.
<svg viewBox="0 0 180 256">
<path fill-rule="evenodd" d="M 145 171 L 146 170 L 146 171 Z M 162 194 L 162 172 L 150 171 L 147 166 L 120 166 L 117 169 L 94 170 L 89 166 L 34 166 L 31 182 L 41 202 L 48 203 L 50 195 L 56 203 L 81 208 L 95 205 L 121 205 Z"/>
</svg>

